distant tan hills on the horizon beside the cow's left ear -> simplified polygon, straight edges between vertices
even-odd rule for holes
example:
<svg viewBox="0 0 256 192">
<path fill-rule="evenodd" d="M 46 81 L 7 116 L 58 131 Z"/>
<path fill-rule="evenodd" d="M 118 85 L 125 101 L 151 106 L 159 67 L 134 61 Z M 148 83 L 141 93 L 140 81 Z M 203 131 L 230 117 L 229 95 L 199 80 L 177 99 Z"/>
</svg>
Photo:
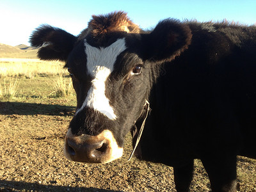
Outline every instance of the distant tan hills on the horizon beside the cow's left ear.
<svg viewBox="0 0 256 192">
<path fill-rule="evenodd" d="M 28 58 L 35 59 L 38 49 L 20 44 L 15 47 L 6 44 L 0 44 L 0 58 Z"/>
</svg>

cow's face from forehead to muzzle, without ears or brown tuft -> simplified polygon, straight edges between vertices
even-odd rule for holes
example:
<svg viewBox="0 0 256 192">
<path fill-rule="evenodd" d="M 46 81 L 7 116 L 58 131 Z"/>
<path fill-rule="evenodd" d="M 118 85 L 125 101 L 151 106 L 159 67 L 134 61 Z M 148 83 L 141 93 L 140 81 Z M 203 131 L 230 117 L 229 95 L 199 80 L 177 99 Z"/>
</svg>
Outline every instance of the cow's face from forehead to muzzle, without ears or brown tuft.
<svg viewBox="0 0 256 192">
<path fill-rule="evenodd" d="M 107 163 L 122 156 L 124 137 L 143 110 L 149 84 L 147 64 L 126 41 L 116 38 L 95 47 L 84 38 L 70 53 L 66 67 L 77 93 L 64 148 L 70 160 Z"/>
</svg>

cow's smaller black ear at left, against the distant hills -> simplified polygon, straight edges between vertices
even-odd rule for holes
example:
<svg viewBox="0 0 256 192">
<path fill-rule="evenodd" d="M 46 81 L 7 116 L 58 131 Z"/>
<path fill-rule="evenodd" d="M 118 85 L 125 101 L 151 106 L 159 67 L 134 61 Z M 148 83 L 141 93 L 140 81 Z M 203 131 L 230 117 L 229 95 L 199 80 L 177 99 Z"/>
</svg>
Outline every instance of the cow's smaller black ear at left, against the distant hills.
<svg viewBox="0 0 256 192">
<path fill-rule="evenodd" d="M 49 25 L 42 25 L 33 31 L 29 40 L 33 47 L 40 47 L 38 58 L 60 61 L 67 61 L 76 41 L 76 36 Z"/>
</svg>

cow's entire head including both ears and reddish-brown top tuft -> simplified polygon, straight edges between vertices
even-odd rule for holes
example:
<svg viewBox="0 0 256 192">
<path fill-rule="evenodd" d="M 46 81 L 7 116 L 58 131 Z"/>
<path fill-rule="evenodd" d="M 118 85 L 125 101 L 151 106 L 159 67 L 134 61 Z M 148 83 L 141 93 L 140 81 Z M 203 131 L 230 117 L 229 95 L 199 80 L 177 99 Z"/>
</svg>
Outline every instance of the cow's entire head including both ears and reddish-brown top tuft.
<svg viewBox="0 0 256 192">
<path fill-rule="evenodd" d="M 31 45 L 42 60 L 62 60 L 72 77 L 77 109 L 65 138 L 67 159 L 108 163 L 122 156 L 124 138 L 143 112 L 159 65 L 188 48 L 191 31 L 163 20 L 142 31 L 124 12 L 93 16 L 81 35 L 41 26 Z"/>
</svg>

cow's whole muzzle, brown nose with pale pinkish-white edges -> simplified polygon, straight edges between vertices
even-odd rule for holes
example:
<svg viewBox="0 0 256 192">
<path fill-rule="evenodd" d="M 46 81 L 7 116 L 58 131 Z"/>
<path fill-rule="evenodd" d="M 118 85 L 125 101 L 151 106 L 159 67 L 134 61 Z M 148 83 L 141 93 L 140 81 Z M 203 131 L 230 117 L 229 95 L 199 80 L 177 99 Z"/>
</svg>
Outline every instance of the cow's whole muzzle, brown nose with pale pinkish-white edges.
<svg viewBox="0 0 256 192">
<path fill-rule="evenodd" d="M 76 136 L 68 129 L 65 137 L 64 155 L 70 161 L 109 163 L 122 157 L 123 150 L 124 148 L 118 147 L 112 132 L 107 129 L 97 136 Z"/>
</svg>

